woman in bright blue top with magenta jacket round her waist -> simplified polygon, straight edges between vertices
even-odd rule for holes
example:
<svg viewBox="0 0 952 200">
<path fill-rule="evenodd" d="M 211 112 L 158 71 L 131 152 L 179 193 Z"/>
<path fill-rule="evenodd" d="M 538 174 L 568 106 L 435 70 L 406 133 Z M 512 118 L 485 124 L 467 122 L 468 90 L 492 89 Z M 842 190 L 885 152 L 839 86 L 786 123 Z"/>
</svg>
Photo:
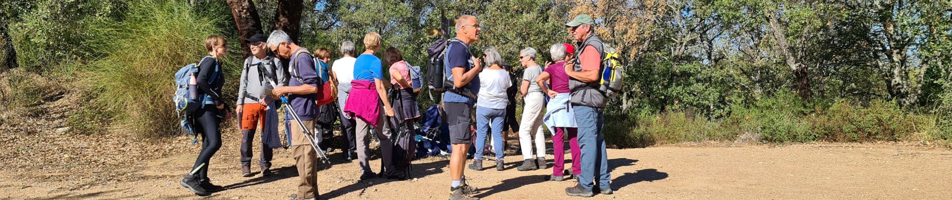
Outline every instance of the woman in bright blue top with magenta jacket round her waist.
<svg viewBox="0 0 952 200">
<path fill-rule="evenodd" d="M 370 170 L 370 137 L 367 135 L 370 131 L 380 139 L 380 152 L 383 155 L 383 172 L 380 173 L 393 172 L 393 141 L 390 139 L 389 127 L 384 124 L 387 122 L 384 119 L 385 114 L 393 117 L 393 107 L 387 100 L 387 87 L 390 87 L 390 82 L 384 82 L 383 64 L 373 55 L 380 50 L 381 43 L 380 34 L 376 32 L 369 32 L 364 36 L 366 50 L 354 61 L 350 95 L 347 97 L 347 105 L 344 106 L 347 115 L 357 118 L 357 164 L 361 168 L 361 180 L 376 175 Z"/>
</svg>

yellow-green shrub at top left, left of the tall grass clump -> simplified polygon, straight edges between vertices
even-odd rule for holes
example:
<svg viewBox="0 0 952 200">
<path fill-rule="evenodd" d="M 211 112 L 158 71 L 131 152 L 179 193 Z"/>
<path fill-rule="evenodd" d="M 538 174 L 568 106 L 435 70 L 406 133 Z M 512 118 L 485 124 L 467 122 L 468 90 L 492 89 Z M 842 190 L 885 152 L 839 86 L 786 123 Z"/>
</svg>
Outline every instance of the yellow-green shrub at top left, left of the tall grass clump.
<svg viewBox="0 0 952 200">
<path fill-rule="evenodd" d="M 64 62 L 83 61 L 97 57 L 95 31 L 89 31 L 113 14 L 121 12 L 125 3 L 118 0 L 35 0 L 13 6 L 20 20 L 10 23 L 10 38 L 17 53 L 17 63 L 30 72 L 45 73 Z M 12 11 L 12 10 L 9 10 Z"/>
</svg>

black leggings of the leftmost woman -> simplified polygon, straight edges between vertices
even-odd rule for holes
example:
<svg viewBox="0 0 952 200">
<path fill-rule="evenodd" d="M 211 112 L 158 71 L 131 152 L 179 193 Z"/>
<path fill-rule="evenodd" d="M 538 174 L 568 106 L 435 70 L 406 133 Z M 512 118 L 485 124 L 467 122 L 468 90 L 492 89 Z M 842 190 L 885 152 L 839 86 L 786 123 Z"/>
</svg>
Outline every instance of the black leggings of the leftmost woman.
<svg viewBox="0 0 952 200">
<path fill-rule="evenodd" d="M 191 168 L 194 171 L 202 163 L 205 163 L 205 166 L 202 166 L 198 171 L 200 180 L 208 180 L 208 165 L 211 165 L 208 161 L 211 160 L 211 155 L 215 155 L 218 149 L 222 147 L 222 133 L 218 130 L 218 123 L 221 120 L 218 118 L 218 113 L 218 108 L 215 108 L 215 105 L 207 104 L 191 115 L 192 118 L 195 118 L 193 124 L 195 131 L 202 135 L 202 152 L 195 158 L 195 165 Z"/>
</svg>

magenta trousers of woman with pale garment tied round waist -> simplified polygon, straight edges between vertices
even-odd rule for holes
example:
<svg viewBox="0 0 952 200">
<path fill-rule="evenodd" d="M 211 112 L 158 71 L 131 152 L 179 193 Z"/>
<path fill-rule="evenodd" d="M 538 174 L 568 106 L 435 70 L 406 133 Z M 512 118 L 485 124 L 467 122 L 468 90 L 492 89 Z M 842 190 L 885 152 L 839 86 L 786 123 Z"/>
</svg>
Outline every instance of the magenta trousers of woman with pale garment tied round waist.
<svg viewBox="0 0 952 200">
<path fill-rule="evenodd" d="M 563 176 L 565 169 L 565 130 L 568 131 L 568 147 L 572 153 L 572 174 L 582 173 L 579 162 L 582 161 L 582 150 L 579 149 L 579 129 L 556 127 L 555 136 L 552 136 L 552 148 L 555 149 L 555 166 L 552 167 L 552 175 Z"/>
</svg>

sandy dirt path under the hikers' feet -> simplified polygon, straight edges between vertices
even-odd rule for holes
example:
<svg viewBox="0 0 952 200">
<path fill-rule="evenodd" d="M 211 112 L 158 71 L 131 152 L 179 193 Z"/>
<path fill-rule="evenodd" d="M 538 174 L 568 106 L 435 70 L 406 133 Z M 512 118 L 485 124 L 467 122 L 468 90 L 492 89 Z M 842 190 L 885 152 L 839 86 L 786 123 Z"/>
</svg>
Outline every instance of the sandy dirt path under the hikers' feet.
<svg viewBox="0 0 952 200">
<path fill-rule="evenodd" d="M 241 177 L 237 159 L 219 156 L 210 176 L 231 189 L 208 199 L 286 199 L 296 171 L 288 153 L 278 151 L 277 174 Z M 592 199 L 950 199 L 952 152 L 947 149 L 868 145 L 664 146 L 608 150 L 611 195 Z M 330 155 L 340 160 L 340 155 Z M 484 199 L 563 199 L 575 182 L 544 181 L 551 170 L 519 172 L 521 155 L 506 156 L 506 171 L 466 171 Z M 0 179 L 0 199 L 201 199 L 178 180 L 193 155 L 149 160 L 132 167 L 136 180 L 90 184 Z M 551 155 L 549 155 L 551 159 Z M 356 163 L 334 162 L 319 172 L 322 198 L 446 199 L 446 159 L 415 161 L 416 180 L 356 181 Z M 374 158 L 371 166 L 379 166 Z M 257 170 L 255 170 L 256 172 Z M 35 172 L 34 172 L 35 173 Z M 52 174 L 55 175 L 55 174 Z"/>
</svg>

